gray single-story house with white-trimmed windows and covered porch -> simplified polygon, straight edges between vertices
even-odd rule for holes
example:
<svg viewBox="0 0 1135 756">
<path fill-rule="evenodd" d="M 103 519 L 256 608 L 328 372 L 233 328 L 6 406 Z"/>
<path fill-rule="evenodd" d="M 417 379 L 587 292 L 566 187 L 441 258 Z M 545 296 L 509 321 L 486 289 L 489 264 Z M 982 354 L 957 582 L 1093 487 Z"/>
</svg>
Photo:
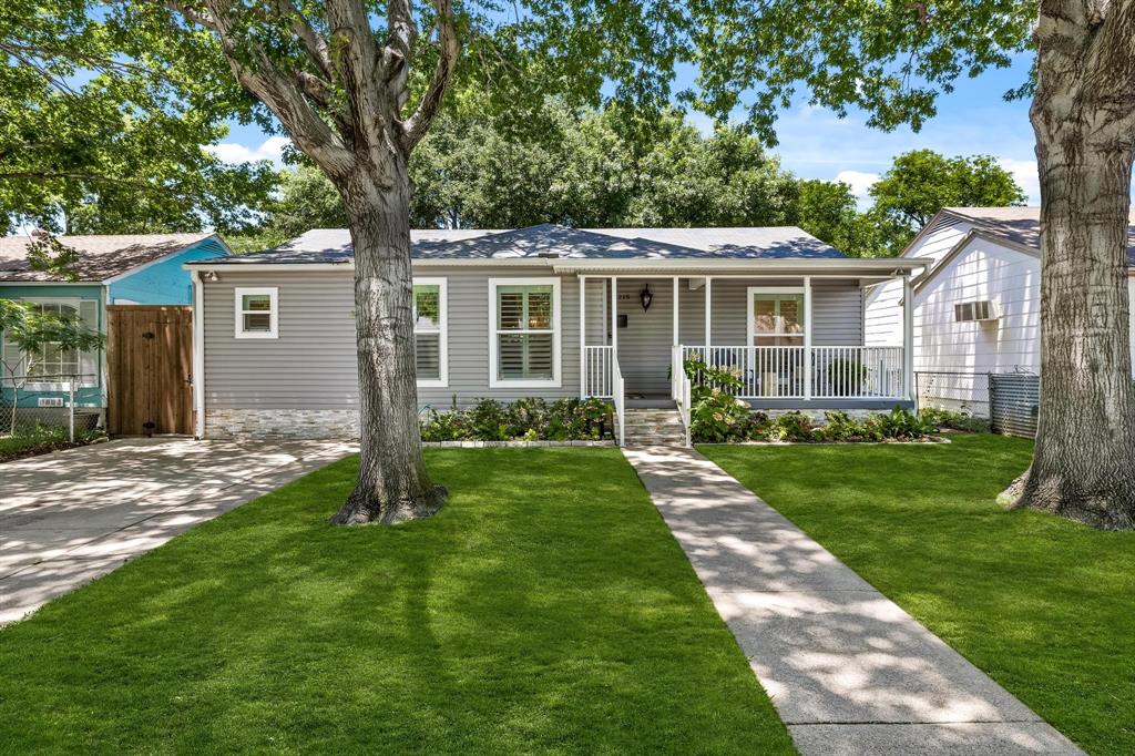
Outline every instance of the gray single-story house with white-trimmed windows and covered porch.
<svg viewBox="0 0 1135 756">
<path fill-rule="evenodd" d="M 755 409 L 910 404 L 909 331 L 864 346 L 864 289 L 909 285 L 917 259 L 850 259 L 796 227 L 552 225 L 413 232 L 412 258 L 423 408 L 599 396 L 620 419 L 681 409 L 691 355 L 734 370 Z M 186 268 L 200 436 L 356 435 L 346 230 Z"/>
</svg>

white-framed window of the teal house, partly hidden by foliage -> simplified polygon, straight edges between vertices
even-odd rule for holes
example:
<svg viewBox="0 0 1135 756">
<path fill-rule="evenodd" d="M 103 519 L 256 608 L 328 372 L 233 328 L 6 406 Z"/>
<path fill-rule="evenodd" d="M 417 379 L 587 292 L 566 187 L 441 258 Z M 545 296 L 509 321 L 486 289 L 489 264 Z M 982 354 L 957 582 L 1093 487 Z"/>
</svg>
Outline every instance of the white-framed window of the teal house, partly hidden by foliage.
<svg viewBox="0 0 1135 756">
<path fill-rule="evenodd" d="M 78 317 L 91 330 L 99 329 L 99 303 L 95 300 L 27 297 L 23 301 L 34 304 L 40 312 Z M 0 345 L 0 361 L 3 362 L 2 379 L 8 386 L 65 390 L 73 379 L 77 387 L 99 385 L 99 350 L 81 352 L 49 342 L 32 352 L 22 352 L 6 334 Z"/>
</svg>

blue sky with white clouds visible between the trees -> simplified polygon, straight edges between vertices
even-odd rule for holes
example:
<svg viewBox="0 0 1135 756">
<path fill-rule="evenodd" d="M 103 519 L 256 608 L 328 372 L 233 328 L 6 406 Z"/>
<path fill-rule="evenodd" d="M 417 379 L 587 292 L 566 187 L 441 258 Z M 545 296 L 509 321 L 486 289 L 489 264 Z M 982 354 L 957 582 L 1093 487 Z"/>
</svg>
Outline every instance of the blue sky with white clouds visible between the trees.
<svg viewBox="0 0 1135 756">
<path fill-rule="evenodd" d="M 897 154 L 919 148 L 947 156 L 991 154 L 1012 171 L 1029 204 L 1040 204 L 1028 102 L 1006 102 L 1002 98 L 1025 81 L 1031 58 L 1024 54 L 1011 68 L 958 82 L 952 93 L 939 100 L 938 116 L 919 133 L 909 128 L 880 132 L 866 126 L 863 114 L 851 112 L 840 119 L 829 110 L 809 107 L 807 99 L 800 98 L 782 114 L 777 124 L 780 144 L 772 151 L 797 176 L 846 180 L 864 205 L 871 182 L 886 170 Z M 688 75 L 679 77 L 675 89 L 690 84 L 682 79 Z M 711 128 L 704 116 L 693 114 L 691 120 L 704 131 Z M 285 143 L 284 137 L 266 135 L 257 127 L 234 126 L 215 150 L 226 160 L 278 160 Z"/>
</svg>

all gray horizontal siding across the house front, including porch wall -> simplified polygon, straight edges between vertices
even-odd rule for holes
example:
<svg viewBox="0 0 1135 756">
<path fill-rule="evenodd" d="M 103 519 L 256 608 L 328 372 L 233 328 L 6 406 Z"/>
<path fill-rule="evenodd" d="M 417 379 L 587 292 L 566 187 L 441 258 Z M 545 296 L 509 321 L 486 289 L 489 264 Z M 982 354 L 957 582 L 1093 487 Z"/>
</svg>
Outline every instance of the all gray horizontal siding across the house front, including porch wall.
<svg viewBox="0 0 1135 756">
<path fill-rule="evenodd" d="M 448 383 L 445 388 L 419 389 L 423 405 L 448 406 L 489 396 L 510 401 L 520 396 L 555 400 L 579 394 L 579 280 L 561 280 L 561 386 L 557 388 L 489 388 L 488 279 L 545 277 L 546 269 L 431 268 L 420 271 L 448 282 Z M 672 341 L 671 279 L 649 279 L 654 302 L 639 304 L 646 279 L 621 278 L 619 312 L 620 366 L 629 392 L 669 392 Z M 746 289 L 749 286 L 792 285 L 798 282 L 717 279 L 713 283 L 713 341 L 741 345 L 746 337 Z M 234 337 L 234 288 L 275 286 L 279 289 L 279 338 Z M 855 345 L 863 338 L 863 300 L 856 282 L 814 284 L 814 341 L 817 345 Z M 354 286 L 344 271 L 233 271 L 204 284 L 205 401 L 209 409 L 352 409 L 358 406 Z M 609 343 L 608 282 L 594 278 L 587 291 L 587 343 Z M 691 289 L 682 279 L 680 341 L 704 342 L 705 288 Z"/>
</svg>

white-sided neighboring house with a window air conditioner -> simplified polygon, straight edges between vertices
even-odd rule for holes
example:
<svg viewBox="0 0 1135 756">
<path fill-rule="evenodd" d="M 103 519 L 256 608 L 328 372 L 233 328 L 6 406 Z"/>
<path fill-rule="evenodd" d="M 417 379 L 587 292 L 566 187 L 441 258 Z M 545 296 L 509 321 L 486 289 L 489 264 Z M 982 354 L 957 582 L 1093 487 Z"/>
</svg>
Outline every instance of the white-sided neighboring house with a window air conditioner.
<svg viewBox="0 0 1135 756">
<path fill-rule="evenodd" d="M 903 250 L 903 258 L 933 260 L 913 282 L 914 369 L 924 404 L 986 417 L 986 373 L 1040 372 L 1040 212 L 944 208 Z M 1135 300 L 1132 232 L 1128 291 Z M 1128 318 L 1135 334 L 1135 317 Z M 894 343 L 901 333 L 902 287 L 884 282 L 865 299 L 864 344 Z M 1135 358 L 1135 341 L 1132 351 Z"/>
</svg>

